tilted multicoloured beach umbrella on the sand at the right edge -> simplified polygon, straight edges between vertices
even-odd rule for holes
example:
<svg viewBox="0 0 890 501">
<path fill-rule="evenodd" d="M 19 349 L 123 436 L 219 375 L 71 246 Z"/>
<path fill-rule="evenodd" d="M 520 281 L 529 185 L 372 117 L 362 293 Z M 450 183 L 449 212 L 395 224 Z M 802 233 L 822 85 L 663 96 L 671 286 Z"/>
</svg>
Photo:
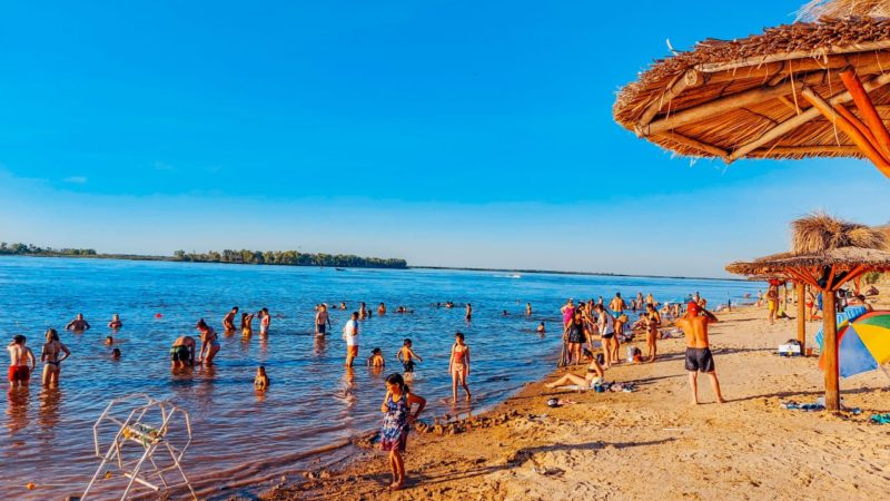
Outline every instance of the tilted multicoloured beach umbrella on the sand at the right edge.
<svg viewBox="0 0 890 501">
<path fill-rule="evenodd" d="M 838 364 L 841 377 L 881 369 L 887 362 L 890 362 L 890 312 L 866 313 L 839 328 Z M 824 351 L 819 360 L 819 369 L 823 369 L 823 364 Z"/>
</svg>

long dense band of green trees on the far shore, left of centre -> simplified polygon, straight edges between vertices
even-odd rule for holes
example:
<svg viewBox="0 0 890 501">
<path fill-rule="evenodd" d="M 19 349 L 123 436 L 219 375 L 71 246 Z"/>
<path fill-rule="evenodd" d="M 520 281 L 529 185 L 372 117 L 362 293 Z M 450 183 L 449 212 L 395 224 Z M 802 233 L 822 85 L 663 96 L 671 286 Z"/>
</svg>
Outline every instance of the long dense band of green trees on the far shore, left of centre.
<svg viewBox="0 0 890 501">
<path fill-rule="evenodd" d="M 343 266 L 354 268 L 407 268 L 405 259 L 362 257 L 353 254 L 306 254 L 297 250 L 210 250 L 205 254 L 174 253 L 176 261 L 191 261 L 196 263 L 240 263 L 266 264 L 284 266 Z"/>
</svg>

